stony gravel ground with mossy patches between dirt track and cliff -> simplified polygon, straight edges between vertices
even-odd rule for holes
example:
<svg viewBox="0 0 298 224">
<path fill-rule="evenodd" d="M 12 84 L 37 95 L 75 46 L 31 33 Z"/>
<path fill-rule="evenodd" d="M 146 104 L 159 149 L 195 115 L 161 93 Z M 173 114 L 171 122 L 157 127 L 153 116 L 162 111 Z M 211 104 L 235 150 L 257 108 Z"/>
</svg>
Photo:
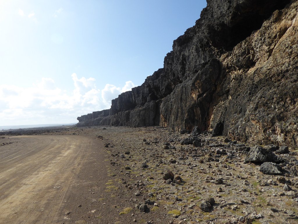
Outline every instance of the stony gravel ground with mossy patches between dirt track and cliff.
<svg viewBox="0 0 298 224">
<path fill-rule="evenodd" d="M 131 223 L 298 223 L 297 148 L 278 154 L 282 174 L 268 175 L 260 171 L 263 162 L 245 161 L 254 146 L 208 132 L 93 126 L 39 134 L 103 143 L 108 176 L 119 184 L 103 183 L 106 194 L 130 198 L 122 213 Z"/>
</svg>

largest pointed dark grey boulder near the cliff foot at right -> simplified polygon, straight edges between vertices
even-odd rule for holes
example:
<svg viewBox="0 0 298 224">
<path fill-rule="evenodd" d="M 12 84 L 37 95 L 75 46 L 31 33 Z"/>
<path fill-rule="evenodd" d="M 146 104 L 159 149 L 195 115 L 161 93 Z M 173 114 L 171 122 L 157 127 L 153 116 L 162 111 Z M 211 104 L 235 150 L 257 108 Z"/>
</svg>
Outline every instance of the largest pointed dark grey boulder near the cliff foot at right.
<svg viewBox="0 0 298 224">
<path fill-rule="evenodd" d="M 272 152 L 266 151 L 261 146 L 252 147 L 245 158 L 245 162 L 278 162 L 278 158 Z"/>
</svg>

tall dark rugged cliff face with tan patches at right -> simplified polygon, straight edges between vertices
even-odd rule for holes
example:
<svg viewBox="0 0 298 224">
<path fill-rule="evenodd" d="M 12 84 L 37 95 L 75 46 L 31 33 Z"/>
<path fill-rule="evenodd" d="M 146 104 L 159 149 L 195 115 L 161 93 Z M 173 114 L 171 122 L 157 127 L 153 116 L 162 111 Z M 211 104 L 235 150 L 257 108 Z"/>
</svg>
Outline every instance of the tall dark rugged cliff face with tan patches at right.
<svg viewBox="0 0 298 224">
<path fill-rule="evenodd" d="M 297 31 L 297 1 L 209 0 L 163 68 L 77 126 L 217 126 L 233 139 L 297 147 Z"/>
</svg>

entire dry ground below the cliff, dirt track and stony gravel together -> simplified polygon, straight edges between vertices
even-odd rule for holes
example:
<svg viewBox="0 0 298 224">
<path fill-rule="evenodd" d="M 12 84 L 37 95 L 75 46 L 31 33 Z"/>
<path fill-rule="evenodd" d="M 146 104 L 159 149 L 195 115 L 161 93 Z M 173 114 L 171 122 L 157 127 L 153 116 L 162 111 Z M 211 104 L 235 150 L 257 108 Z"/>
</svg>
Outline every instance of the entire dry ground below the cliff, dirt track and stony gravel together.
<svg viewBox="0 0 298 224">
<path fill-rule="evenodd" d="M 187 137 L 105 126 L 0 138 L 0 223 L 298 223 L 297 149 L 281 155 L 285 175 L 265 175 L 243 163 L 249 145 L 208 133 L 201 147 L 181 145 Z M 165 183 L 168 169 L 181 184 Z M 148 212 L 135 208 L 148 199 Z"/>
</svg>

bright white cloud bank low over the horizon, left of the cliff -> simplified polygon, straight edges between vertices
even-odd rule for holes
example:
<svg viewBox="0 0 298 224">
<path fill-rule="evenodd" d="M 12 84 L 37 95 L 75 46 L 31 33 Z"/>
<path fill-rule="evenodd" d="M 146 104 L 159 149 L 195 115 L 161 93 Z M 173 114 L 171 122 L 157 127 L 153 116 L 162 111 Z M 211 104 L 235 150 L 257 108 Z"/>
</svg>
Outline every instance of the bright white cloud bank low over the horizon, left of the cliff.
<svg viewBox="0 0 298 224">
<path fill-rule="evenodd" d="M 28 88 L 0 85 L 0 126 L 74 123 L 77 116 L 110 108 L 112 99 L 134 87 L 127 81 L 123 87 L 106 84 L 100 90 L 94 78 L 79 79 L 76 73 L 72 81 L 70 92 L 58 88 L 50 78 Z"/>
</svg>

